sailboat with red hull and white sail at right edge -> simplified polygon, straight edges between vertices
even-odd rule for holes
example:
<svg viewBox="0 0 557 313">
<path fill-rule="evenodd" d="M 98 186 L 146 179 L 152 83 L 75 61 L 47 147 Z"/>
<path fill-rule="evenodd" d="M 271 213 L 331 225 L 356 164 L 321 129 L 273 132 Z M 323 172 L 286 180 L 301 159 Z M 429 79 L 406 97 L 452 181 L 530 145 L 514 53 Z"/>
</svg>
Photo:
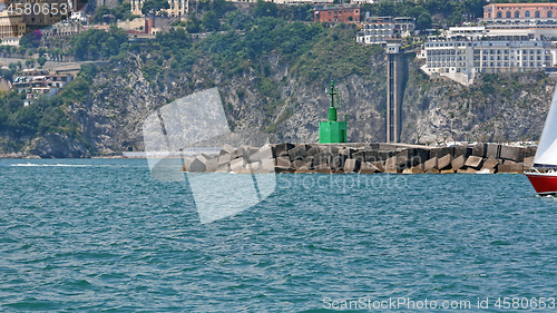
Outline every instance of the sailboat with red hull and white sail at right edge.
<svg viewBox="0 0 557 313">
<path fill-rule="evenodd" d="M 541 131 L 534 165 L 525 172 L 538 195 L 557 194 L 557 88 Z"/>
</svg>

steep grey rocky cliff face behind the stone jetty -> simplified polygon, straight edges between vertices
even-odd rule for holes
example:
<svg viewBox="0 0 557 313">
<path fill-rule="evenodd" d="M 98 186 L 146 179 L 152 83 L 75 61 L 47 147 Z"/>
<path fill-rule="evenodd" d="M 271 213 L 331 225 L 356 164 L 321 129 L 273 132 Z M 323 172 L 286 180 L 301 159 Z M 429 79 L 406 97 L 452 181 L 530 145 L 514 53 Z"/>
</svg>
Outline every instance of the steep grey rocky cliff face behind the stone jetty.
<svg viewBox="0 0 557 313">
<path fill-rule="evenodd" d="M 144 62 L 156 56 L 146 53 L 141 58 L 129 53 L 126 62 L 113 62 L 99 70 L 85 100 L 67 108 L 68 116 L 79 124 L 88 148 L 76 144 L 74 138 L 52 135 L 36 139 L 27 146 L 27 151 L 42 157 L 81 157 L 88 153 L 143 150 L 141 123 L 147 115 L 175 99 L 212 87 L 221 92 L 231 129 L 244 141 L 252 134 L 264 131 L 272 143 L 316 143 L 317 121 L 328 116 L 330 99 L 325 88 L 331 79 L 341 91 L 339 117 L 346 115 L 349 140 L 384 141 L 385 55 L 363 57 L 369 67 L 364 74 L 349 71 L 316 80 L 303 79 L 300 65 L 282 60 L 280 52 L 261 60 L 266 70 L 250 68 L 229 75 L 215 69 L 208 57 L 202 57 L 188 72 L 165 71 L 156 80 L 148 80 Z M 430 79 L 411 57 L 409 60 L 402 141 L 434 144 L 539 137 L 555 88 L 546 75 L 485 75 L 475 86 L 463 87 L 444 79 Z M 334 61 L 321 62 L 319 66 L 333 67 L 333 72 L 338 66 Z M 167 70 L 169 65 L 165 62 L 163 68 Z"/>
</svg>

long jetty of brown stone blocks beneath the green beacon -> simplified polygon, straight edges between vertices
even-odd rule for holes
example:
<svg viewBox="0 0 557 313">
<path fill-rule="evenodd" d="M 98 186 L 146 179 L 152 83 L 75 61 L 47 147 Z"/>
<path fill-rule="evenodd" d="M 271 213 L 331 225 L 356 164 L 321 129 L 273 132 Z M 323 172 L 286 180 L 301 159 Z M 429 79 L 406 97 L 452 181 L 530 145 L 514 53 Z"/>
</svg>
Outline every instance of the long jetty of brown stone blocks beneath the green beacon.
<svg viewBox="0 0 557 313">
<path fill-rule="evenodd" d="M 536 146 L 495 143 L 432 147 L 408 144 L 225 145 L 218 156 L 184 158 L 188 173 L 455 174 L 516 173 L 532 165 Z"/>
</svg>

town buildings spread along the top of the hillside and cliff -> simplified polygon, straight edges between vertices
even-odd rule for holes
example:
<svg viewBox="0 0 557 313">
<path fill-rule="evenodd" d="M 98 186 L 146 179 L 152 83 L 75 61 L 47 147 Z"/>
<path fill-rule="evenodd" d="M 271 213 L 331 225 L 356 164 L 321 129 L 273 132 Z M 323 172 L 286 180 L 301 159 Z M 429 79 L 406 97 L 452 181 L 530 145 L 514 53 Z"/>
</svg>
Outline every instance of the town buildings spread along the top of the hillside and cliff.
<svg viewBox="0 0 557 313">
<path fill-rule="evenodd" d="M 149 1 L 157 2 L 158 7 Z M 68 39 L 89 29 L 108 31 L 110 26 L 117 26 L 125 30 L 128 41 L 133 43 L 154 39 L 157 33 L 185 27 L 192 20 L 201 18 L 196 13 L 199 1 L 74 1 L 72 7 L 81 8 L 79 11 L 68 11 L 67 16 L 38 14 L 36 18 L 30 18 L 25 12 L 14 13 L 8 2 L 3 3 L 0 11 L 0 39 L 4 50 L 11 52 L 2 52 L 1 56 L 13 57 L 14 51 L 21 53 L 20 40 L 31 31 L 40 31 L 42 40 Z M 145 3 L 150 9 L 146 10 Z M 257 2 L 234 0 L 224 3 L 246 11 Z M 412 52 L 422 63 L 423 72 L 430 77 L 446 77 L 465 86 L 473 84 L 479 74 L 557 71 L 557 3 L 487 3 L 481 17 L 468 19 L 468 22 L 458 26 L 446 27 L 447 23 L 431 22 L 429 28 L 419 26 L 414 17 L 372 16 L 365 11 L 369 6 L 377 4 L 372 0 L 350 3 L 338 3 L 336 0 L 282 0 L 273 3 L 310 6 L 313 22 L 354 25 L 359 29 L 354 39 L 356 42 L 380 45 L 383 48 L 391 46 L 391 49 L 395 46 L 397 51 L 400 49 L 401 52 Z M 117 14 L 121 14 L 121 19 Z M 48 27 L 41 28 L 45 25 Z M 190 29 L 188 31 L 192 32 Z M 206 36 L 206 32 L 199 32 L 195 38 Z M 37 59 L 39 65 L 46 61 L 75 60 L 69 53 L 30 53 L 20 57 Z M 40 57 L 45 58 L 42 62 L 38 60 Z M 32 60 L 27 61 L 27 66 L 33 63 Z M 3 68 L 9 67 L 4 63 Z M 32 68 L 26 70 L 13 75 L 8 85 L 9 89 L 33 94 L 28 98 L 42 94 L 53 95 L 72 77 L 69 74 L 59 77 L 56 71 L 45 74 L 43 70 Z M 31 72 L 39 74 L 33 76 Z M 46 84 L 41 80 L 42 77 L 62 81 L 62 86 Z"/>
</svg>

